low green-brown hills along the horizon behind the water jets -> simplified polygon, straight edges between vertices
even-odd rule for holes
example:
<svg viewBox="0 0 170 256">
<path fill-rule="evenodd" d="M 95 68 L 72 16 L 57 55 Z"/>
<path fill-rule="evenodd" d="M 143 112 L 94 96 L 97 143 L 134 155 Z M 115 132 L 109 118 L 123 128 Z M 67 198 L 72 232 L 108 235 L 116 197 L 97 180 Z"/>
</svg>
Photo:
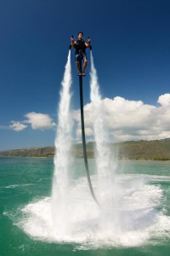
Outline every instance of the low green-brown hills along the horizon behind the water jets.
<svg viewBox="0 0 170 256">
<path fill-rule="evenodd" d="M 129 160 L 170 160 L 170 138 L 154 141 L 131 141 L 108 144 L 113 156 Z M 87 143 L 88 158 L 94 158 L 95 143 Z M 71 150 L 77 158 L 83 157 L 82 144 Z M 54 157 L 54 147 L 23 148 L 0 152 L 2 156 Z"/>
</svg>

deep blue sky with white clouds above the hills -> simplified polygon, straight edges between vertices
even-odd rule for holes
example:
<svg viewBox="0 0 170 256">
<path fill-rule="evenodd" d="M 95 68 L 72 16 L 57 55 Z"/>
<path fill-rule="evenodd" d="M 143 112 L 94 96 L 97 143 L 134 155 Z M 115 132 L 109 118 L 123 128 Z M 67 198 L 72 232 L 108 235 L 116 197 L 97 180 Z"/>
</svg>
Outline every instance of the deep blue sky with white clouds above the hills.
<svg viewBox="0 0 170 256">
<path fill-rule="evenodd" d="M 170 137 L 169 13 L 168 0 L 1 0 L 0 150 L 54 145 L 68 47 L 79 31 L 85 40 L 91 37 L 112 140 Z M 71 66 L 77 122 L 73 50 Z M 90 137 L 89 70 L 88 61 L 84 104 Z"/>
</svg>

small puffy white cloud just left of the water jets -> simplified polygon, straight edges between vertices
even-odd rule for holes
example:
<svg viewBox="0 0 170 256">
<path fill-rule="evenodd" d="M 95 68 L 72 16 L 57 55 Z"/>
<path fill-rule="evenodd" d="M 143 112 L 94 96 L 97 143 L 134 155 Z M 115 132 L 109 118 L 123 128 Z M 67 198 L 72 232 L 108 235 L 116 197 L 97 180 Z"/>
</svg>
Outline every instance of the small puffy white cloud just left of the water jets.
<svg viewBox="0 0 170 256">
<path fill-rule="evenodd" d="M 33 130 L 48 130 L 52 129 L 56 124 L 53 122 L 53 119 L 47 113 L 26 113 L 25 123 L 31 124 Z"/>
</svg>

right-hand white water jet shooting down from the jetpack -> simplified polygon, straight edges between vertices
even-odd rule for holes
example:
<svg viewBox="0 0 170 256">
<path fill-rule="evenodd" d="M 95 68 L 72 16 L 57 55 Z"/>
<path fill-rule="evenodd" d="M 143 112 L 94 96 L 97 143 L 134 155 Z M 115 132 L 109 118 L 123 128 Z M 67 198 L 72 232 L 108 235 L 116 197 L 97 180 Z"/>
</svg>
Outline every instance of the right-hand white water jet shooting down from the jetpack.
<svg viewBox="0 0 170 256">
<path fill-rule="evenodd" d="M 91 72 L 91 102 L 94 113 L 94 139 L 96 143 L 96 166 L 98 172 L 98 194 L 100 205 L 99 229 L 101 232 L 118 232 L 120 219 L 118 203 L 120 201 L 119 188 L 115 182 L 116 163 L 111 157 L 111 149 L 108 143 L 108 131 L 105 127 L 105 113 L 103 102 L 99 93 L 99 82 L 94 67 L 94 58 L 90 52 Z"/>
</svg>

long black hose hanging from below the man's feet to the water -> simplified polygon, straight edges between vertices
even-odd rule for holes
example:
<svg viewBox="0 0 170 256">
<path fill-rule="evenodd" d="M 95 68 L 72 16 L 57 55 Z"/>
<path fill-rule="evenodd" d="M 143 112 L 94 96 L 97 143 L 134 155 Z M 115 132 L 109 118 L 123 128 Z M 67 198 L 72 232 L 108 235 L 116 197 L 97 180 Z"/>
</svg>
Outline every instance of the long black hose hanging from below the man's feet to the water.
<svg viewBox="0 0 170 256">
<path fill-rule="evenodd" d="M 91 192 L 91 195 L 94 198 L 94 201 L 99 205 L 99 202 L 97 201 L 95 195 L 94 195 L 94 189 L 92 186 L 92 182 L 90 179 L 89 169 L 88 169 L 88 155 L 87 155 L 87 149 L 86 149 L 86 136 L 84 131 L 84 112 L 83 112 L 83 93 L 82 93 L 82 76 L 79 76 L 79 89 L 80 89 L 80 106 L 81 106 L 81 122 L 82 122 L 82 148 L 83 148 L 83 156 L 84 156 L 84 164 L 86 167 L 86 175 L 88 177 L 88 186 Z"/>
</svg>

